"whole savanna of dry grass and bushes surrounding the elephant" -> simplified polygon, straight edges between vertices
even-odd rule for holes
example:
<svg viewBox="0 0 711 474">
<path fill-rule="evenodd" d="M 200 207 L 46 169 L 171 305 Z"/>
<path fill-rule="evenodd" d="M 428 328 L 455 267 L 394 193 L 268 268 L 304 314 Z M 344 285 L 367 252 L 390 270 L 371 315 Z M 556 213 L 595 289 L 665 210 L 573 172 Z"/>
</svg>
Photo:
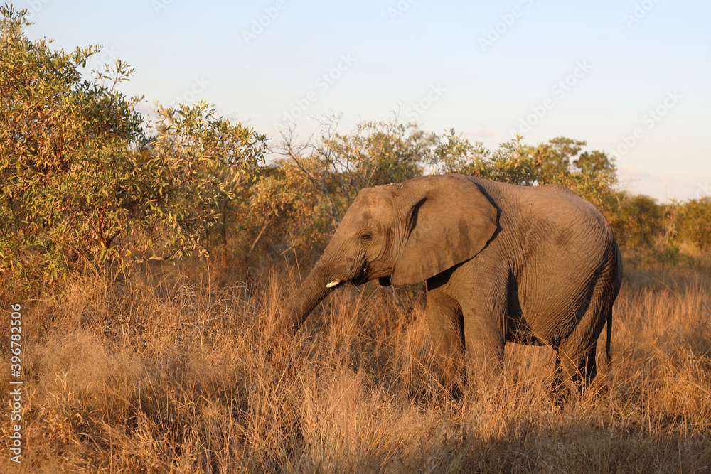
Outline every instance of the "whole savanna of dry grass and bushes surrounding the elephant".
<svg viewBox="0 0 711 474">
<path fill-rule="evenodd" d="M 706 188 L 657 203 L 586 141 L 489 149 L 397 113 L 305 141 L 203 101 L 144 117 L 133 68 L 90 70 L 100 46 L 55 50 L 29 18 L 0 6 L 0 473 L 711 472 Z M 584 394 L 551 391 L 550 348 L 510 344 L 451 400 L 421 284 L 338 289 L 272 334 L 360 190 L 450 172 L 565 185 L 609 220 L 613 359 L 603 334 Z"/>
</svg>

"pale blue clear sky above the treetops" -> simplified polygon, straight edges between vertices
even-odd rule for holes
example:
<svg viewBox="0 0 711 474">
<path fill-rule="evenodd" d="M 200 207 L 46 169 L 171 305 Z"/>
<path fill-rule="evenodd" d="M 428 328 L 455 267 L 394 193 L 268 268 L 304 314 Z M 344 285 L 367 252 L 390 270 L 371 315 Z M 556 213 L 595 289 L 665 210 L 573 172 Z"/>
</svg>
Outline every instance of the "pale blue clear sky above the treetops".
<svg viewBox="0 0 711 474">
<path fill-rule="evenodd" d="M 661 201 L 711 195 L 711 2 L 22 0 L 31 38 L 101 44 L 152 103 L 205 99 L 279 140 L 314 117 L 388 119 L 490 148 L 585 140 L 623 185 Z M 95 65 L 92 61 L 89 65 Z"/>
</svg>

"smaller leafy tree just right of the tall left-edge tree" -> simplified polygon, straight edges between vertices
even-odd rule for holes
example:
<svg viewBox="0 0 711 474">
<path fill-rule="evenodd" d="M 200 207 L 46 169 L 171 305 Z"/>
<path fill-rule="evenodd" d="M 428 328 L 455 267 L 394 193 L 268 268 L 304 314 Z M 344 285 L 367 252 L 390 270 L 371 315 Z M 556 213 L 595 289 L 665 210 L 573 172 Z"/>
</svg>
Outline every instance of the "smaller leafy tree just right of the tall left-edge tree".
<svg viewBox="0 0 711 474">
<path fill-rule="evenodd" d="M 213 227 L 226 243 L 228 205 L 257 176 L 267 138 L 218 117 L 206 102 L 159 106 L 158 116 L 159 134 L 141 150 L 132 179 L 147 198 L 132 202 L 140 203 L 133 206 L 136 232 L 126 227 L 132 251 L 159 259 L 205 254 Z"/>
</svg>

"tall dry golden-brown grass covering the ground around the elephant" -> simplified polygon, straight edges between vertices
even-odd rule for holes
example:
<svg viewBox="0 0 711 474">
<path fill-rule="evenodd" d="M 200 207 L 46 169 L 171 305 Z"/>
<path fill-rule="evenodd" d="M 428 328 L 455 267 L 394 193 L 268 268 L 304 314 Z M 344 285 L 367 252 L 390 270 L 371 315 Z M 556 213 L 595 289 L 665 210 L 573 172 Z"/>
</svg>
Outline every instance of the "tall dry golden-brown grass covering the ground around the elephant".
<svg viewBox="0 0 711 474">
<path fill-rule="evenodd" d="M 338 291 L 295 340 L 267 340 L 293 273 L 200 278 L 77 277 L 24 302 L 24 472 L 711 470 L 709 274 L 626 276 L 613 363 L 562 406 L 552 351 L 513 344 L 444 397 L 416 288 Z"/>
</svg>

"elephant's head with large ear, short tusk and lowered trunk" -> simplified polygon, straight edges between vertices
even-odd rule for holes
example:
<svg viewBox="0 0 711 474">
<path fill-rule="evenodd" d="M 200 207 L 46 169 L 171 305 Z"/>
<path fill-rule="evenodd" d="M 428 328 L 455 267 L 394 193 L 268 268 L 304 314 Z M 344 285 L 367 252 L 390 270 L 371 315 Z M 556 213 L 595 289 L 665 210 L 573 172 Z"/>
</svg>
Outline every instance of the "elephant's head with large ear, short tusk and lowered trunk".
<svg viewBox="0 0 711 474">
<path fill-rule="evenodd" d="M 296 330 L 338 286 L 412 284 L 471 259 L 497 228 L 497 210 L 461 175 L 360 190 L 281 320 Z"/>
</svg>

